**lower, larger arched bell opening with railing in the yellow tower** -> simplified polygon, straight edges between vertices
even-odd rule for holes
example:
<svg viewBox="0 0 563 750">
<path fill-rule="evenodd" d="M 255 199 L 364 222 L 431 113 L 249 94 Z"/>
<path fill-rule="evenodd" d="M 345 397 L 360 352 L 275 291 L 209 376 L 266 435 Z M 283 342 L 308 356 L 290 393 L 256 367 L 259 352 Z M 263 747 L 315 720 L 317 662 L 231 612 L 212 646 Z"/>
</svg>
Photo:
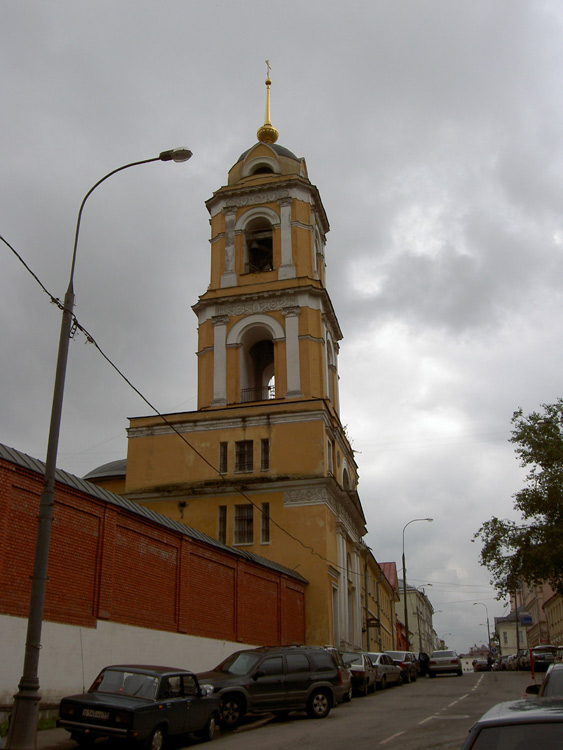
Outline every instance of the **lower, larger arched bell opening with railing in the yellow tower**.
<svg viewBox="0 0 563 750">
<path fill-rule="evenodd" d="M 272 332 L 261 326 L 251 328 L 242 337 L 241 345 L 241 401 L 275 398 Z"/>
</svg>

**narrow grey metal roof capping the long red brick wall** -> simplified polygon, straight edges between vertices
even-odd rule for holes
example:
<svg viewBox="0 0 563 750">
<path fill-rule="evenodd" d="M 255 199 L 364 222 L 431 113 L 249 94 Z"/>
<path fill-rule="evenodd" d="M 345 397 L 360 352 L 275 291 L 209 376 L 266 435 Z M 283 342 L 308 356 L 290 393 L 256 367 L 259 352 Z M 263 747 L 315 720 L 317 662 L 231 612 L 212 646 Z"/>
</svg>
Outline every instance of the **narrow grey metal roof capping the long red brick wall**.
<svg viewBox="0 0 563 750">
<path fill-rule="evenodd" d="M 29 469 L 29 471 L 32 471 L 35 474 L 43 475 L 45 473 L 45 464 L 43 461 L 39 461 L 39 459 L 37 458 L 32 458 L 31 456 L 28 456 L 27 453 L 22 453 L 15 448 L 9 448 L 7 445 L 3 445 L 2 443 L 0 443 L 0 460 L 16 464 L 17 466 L 21 466 L 24 469 Z M 138 503 L 133 502 L 133 500 L 128 500 L 126 497 L 115 495 L 113 492 L 108 492 L 108 490 L 104 490 L 102 487 L 97 487 L 95 484 L 92 484 L 85 479 L 80 479 L 79 477 L 74 476 L 74 474 L 69 474 L 66 471 L 62 471 L 62 469 L 57 469 L 56 481 L 60 484 L 66 485 L 67 487 L 72 487 L 79 492 L 83 492 L 90 497 L 95 497 L 102 502 L 110 503 L 111 505 L 116 505 L 119 508 L 123 508 L 124 510 L 129 511 L 129 513 L 133 513 L 136 516 L 147 518 L 148 520 L 152 521 L 153 523 L 159 524 L 160 526 L 172 529 L 173 531 L 177 531 L 180 534 L 185 534 L 191 539 L 196 539 L 197 541 L 203 542 L 204 544 L 209 544 L 212 547 L 216 547 L 217 549 L 222 550 L 223 552 L 227 552 L 229 555 L 242 557 L 243 559 L 249 560 L 250 562 L 258 563 L 265 568 L 270 568 L 270 570 L 275 570 L 276 572 L 282 573 L 283 575 L 291 576 L 292 578 L 295 578 L 302 583 L 308 583 L 306 578 L 304 578 L 299 573 L 296 573 L 294 570 L 286 568 L 284 565 L 280 565 L 273 560 L 267 560 L 265 557 L 255 555 L 253 552 L 247 552 L 244 549 L 238 549 L 235 547 L 229 547 L 226 544 L 221 544 L 221 542 L 219 542 L 217 539 L 213 539 L 212 537 L 207 536 L 207 534 L 203 534 L 201 531 L 193 529 L 191 526 L 186 526 L 179 521 L 175 521 L 173 518 L 168 518 L 168 516 L 164 516 L 162 515 L 162 513 L 156 513 L 154 510 L 146 508 L 144 505 L 139 505 Z"/>
</svg>

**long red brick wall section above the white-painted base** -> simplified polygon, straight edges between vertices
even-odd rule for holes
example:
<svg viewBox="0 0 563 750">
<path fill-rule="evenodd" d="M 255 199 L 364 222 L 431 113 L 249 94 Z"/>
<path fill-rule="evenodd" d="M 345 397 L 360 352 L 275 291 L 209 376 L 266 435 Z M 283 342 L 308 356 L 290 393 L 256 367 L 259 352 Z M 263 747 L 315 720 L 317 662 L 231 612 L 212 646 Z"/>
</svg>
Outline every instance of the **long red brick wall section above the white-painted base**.
<svg viewBox="0 0 563 750">
<path fill-rule="evenodd" d="M 0 460 L 0 613 L 27 617 L 42 477 Z M 256 644 L 305 640 L 304 586 L 57 484 L 45 619 Z"/>
</svg>

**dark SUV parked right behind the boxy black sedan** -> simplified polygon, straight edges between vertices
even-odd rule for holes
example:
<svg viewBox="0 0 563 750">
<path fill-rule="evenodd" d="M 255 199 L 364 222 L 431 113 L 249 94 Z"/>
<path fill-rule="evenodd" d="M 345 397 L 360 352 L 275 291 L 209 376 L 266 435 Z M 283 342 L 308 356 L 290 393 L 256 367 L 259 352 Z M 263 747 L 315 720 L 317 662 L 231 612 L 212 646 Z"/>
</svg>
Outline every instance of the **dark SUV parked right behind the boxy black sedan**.
<svg viewBox="0 0 563 750">
<path fill-rule="evenodd" d="M 211 672 L 197 675 L 219 695 L 223 727 L 233 729 L 247 713 L 304 709 L 322 719 L 336 706 L 342 674 L 332 654 L 314 646 L 280 646 L 237 651 Z"/>
</svg>

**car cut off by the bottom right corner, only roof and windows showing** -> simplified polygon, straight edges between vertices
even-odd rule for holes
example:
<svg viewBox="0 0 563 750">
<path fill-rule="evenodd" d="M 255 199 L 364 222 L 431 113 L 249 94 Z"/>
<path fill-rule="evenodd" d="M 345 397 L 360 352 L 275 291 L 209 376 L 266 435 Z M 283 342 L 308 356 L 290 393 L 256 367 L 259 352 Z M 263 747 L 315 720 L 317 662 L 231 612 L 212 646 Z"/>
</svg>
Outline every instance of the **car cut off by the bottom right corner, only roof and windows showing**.
<svg viewBox="0 0 563 750">
<path fill-rule="evenodd" d="M 497 703 L 469 730 L 461 750 L 556 748 L 563 740 L 563 700 L 532 698 Z"/>
</svg>

